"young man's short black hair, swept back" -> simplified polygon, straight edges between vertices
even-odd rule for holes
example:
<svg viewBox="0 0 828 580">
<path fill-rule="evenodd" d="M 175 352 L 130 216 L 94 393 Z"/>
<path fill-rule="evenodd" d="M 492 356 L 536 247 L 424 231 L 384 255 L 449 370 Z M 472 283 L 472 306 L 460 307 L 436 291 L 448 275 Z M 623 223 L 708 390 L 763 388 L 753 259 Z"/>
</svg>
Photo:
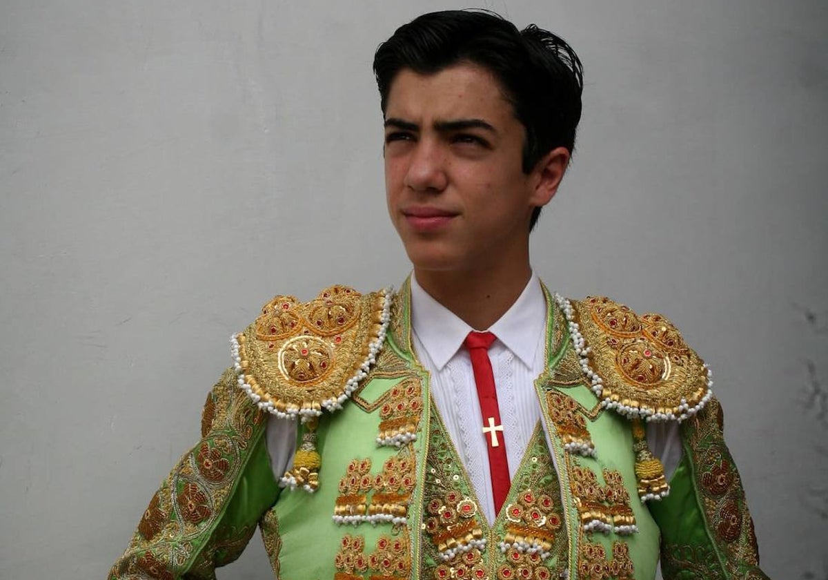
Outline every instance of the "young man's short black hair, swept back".
<svg viewBox="0 0 828 580">
<path fill-rule="evenodd" d="M 431 74 L 460 62 L 489 70 L 526 128 L 524 173 L 555 147 L 574 150 L 584 86 L 575 51 L 560 36 L 534 24 L 518 31 L 489 11 L 431 12 L 397 28 L 373 58 L 383 114 L 400 70 Z M 540 213 L 532 212 L 530 229 Z"/>
</svg>

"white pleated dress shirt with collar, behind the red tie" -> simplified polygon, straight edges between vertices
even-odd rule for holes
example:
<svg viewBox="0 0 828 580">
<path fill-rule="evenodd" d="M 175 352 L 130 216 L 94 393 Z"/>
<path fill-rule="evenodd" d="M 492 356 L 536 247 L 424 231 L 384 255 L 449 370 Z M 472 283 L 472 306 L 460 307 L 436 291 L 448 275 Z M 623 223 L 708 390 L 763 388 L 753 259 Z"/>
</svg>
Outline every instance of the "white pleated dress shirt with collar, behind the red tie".
<svg viewBox="0 0 828 580">
<path fill-rule="evenodd" d="M 489 523 L 494 497 L 489 447 L 474 384 L 470 331 L 489 331 L 494 388 L 503 421 L 509 476 L 514 477 L 541 418 L 534 381 L 546 367 L 546 297 L 535 273 L 512 307 L 487 329 L 474 329 L 423 290 L 412 274 L 412 334 L 417 358 L 431 373 L 431 396 Z"/>
</svg>

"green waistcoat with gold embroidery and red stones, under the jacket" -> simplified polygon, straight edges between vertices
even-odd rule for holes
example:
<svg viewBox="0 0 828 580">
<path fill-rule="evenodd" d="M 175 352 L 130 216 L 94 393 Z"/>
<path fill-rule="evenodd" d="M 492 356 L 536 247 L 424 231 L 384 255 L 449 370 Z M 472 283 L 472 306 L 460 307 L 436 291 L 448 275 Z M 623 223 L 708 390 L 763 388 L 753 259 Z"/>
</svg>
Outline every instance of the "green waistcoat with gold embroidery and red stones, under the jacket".
<svg viewBox="0 0 828 580">
<path fill-rule="evenodd" d="M 436 409 L 433 418 L 422 578 L 546 580 L 560 575 L 566 568 L 567 537 L 560 532 L 558 478 L 541 428 L 527 446 L 507 503 L 489 526 Z"/>
</svg>

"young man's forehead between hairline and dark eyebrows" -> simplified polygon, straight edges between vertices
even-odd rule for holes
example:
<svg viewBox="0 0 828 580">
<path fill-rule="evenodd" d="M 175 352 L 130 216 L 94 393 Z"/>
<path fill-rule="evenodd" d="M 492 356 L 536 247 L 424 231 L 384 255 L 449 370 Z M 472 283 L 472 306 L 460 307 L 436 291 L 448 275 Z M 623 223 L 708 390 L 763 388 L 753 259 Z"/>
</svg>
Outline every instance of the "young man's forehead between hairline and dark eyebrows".
<svg viewBox="0 0 828 580">
<path fill-rule="evenodd" d="M 499 124 L 513 119 L 513 108 L 489 70 L 459 64 L 430 74 L 400 70 L 388 91 L 385 116 L 413 122 L 481 118 Z"/>
</svg>

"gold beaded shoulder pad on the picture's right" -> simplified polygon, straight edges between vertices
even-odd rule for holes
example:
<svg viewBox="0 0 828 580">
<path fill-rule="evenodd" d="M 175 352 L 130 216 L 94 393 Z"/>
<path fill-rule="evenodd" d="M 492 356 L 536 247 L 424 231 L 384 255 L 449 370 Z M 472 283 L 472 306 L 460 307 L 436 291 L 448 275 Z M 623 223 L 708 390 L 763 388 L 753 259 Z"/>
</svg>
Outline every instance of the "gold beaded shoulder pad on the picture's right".
<svg viewBox="0 0 828 580">
<path fill-rule="evenodd" d="M 639 317 L 607 297 L 556 300 L 605 408 L 628 418 L 681 422 L 713 396 L 710 370 L 666 317 Z"/>
</svg>

